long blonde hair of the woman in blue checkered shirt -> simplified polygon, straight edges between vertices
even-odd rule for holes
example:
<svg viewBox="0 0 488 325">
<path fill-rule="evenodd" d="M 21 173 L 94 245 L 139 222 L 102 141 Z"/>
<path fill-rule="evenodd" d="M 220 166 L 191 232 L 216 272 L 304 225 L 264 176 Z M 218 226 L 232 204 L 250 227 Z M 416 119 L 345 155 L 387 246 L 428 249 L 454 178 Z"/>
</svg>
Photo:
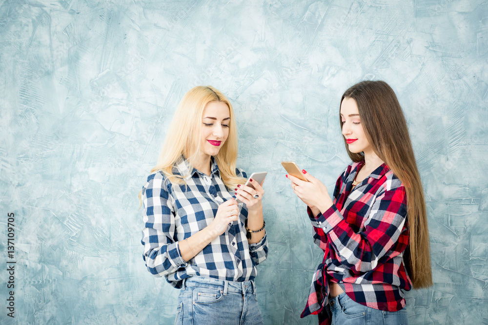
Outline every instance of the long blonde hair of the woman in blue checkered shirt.
<svg viewBox="0 0 488 325">
<path fill-rule="evenodd" d="M 182 98 L 167 131 L 156 166 L 151 172 L 162 171 L 172 184 L 185 184 L 185 176 L 175 175 L 173 168 L 186 159 L 188 172 L 193 170 L 200 150 L 203 110 L 210 102 L 223 102 L 229 108 L 229 135 L 219 153 L 214 156 L 220 177 L 227 188 L 244 184 L 245 179 L 236 174 L 237 124 L 232 104 L 220 91 L 211 86 L 197 86 Z"/>
</svg>

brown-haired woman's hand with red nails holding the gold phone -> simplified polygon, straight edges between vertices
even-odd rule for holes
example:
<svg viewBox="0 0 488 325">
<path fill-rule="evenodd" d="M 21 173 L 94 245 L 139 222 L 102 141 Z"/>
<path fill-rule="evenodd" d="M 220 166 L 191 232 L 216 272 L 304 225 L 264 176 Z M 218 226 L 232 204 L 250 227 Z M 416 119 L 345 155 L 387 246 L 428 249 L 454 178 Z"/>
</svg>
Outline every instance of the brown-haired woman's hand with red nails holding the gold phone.
<svg viewBox="0 0 488 325">
<path fill-rule="evenodd" d="M 291 180 L 293 192 L 312 210 L 314 216 L 317 216 L 319 212 L 324 213 L 332 206 L 327 187 L 305 170 L 302 170 L 302 174 L 308 182 L 292 175 L 286 175 Z"/>
</svg>

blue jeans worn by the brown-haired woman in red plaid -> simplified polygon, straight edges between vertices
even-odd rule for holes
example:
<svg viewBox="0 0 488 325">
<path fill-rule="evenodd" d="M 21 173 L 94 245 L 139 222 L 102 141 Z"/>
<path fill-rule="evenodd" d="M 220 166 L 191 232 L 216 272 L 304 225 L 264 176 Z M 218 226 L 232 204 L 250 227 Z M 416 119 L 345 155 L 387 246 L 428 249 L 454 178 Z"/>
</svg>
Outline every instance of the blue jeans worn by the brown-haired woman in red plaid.
<svg viewBox="0 0 488 325">
<path fill-rule="evenodd" d="M 332 325 L 407 325 L 405 308 L 398 311 L 384 311 L 363 306 L 343 292 L 329 299 Z"/>
</svg>

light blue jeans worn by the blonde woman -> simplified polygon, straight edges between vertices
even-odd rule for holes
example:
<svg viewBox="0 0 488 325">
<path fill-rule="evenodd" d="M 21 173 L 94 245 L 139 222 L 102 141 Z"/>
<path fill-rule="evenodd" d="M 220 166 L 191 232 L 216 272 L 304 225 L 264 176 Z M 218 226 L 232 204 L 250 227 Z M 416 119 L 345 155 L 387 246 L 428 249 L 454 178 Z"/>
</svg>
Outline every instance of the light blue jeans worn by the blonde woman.
<svg viewBox="0 0 488 325">
<path fill-rule="evenodd" d="M 254 281 L 192 276 L 183 281 L 175 325 L 264 324 Z"/>
</svg>

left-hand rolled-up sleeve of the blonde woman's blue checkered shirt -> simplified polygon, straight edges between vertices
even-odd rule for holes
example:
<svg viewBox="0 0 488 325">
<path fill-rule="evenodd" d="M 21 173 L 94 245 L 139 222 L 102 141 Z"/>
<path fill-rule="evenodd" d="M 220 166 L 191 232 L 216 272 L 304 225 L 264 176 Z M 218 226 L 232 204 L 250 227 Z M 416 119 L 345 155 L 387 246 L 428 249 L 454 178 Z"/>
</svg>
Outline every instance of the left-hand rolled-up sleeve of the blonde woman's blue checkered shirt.
<svg viewBox="0 0 488 325">
<path fill-rule="evenodd" d="M 174 240 L 175 217 L 172 198 L 164 188 L 160 172 L 151 174 L 142 188 L 144 206 L 141 243 L 142 258 L 151 274 L 161 277 L 186 266 L 178 242 Z"/>
</svg>

